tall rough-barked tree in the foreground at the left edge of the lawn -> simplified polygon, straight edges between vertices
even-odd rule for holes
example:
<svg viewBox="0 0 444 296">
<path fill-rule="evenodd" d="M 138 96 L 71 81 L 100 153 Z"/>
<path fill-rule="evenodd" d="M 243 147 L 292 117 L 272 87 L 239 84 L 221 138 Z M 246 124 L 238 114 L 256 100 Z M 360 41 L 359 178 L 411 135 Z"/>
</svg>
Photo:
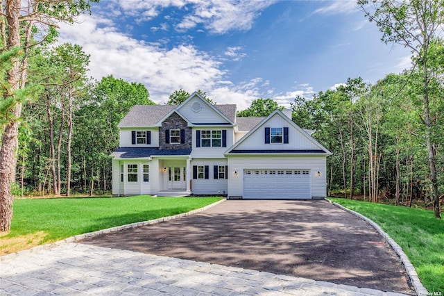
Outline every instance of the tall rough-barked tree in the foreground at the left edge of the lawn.
<svg viewBox="0 0 444 296">
<path fill-rule="evenodd" d="M 0 1 L 0 51 L 12 53 L 10 67 L 2 75 L 6 78 L 2 81 L 2 100 L 7 101 L 9 107 L 0 149 L 0 231 L 10 231 L 12 220 L 11 184 L 17 164 L 19 118 L 23 101 L 28 97 L 23 92 L 28 54 L 35 44 L 53 38 L 58 22 L 74 22 L 74 17 L 89 10 L 92 1 L 97 0 Z M 34 38 L 37 33 L 39 38 Z"/>
</svg>

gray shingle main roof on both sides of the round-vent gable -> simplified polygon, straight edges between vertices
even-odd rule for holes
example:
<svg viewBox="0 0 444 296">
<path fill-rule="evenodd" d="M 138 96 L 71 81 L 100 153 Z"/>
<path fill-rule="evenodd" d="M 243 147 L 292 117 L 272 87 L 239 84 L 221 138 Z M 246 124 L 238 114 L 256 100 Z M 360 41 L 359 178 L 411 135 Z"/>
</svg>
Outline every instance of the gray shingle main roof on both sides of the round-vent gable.
<svg viewBox="0 0 444 296">
<path fill-rule="evenodd" d="M 123 117 L 117 127 L 155 126 L 159 120 L 176 108 L 174 105 L 136 105 Z M 232 122 L 236 118 L 236 105 L 214 105 Z"/>
</svg>

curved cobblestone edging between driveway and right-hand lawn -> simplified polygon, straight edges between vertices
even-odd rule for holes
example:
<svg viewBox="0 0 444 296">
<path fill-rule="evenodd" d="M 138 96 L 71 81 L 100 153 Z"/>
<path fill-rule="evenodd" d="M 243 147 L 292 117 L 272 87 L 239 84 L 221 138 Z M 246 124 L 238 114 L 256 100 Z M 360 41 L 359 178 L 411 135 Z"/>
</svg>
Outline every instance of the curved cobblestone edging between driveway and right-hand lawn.
<svg viewBox="0 0 444 296">
<path fill-rule="evenodd" d="M 379 227 L 378 224 L 376 224 L 372 220 L 368 219 L 368 217 L 365 217 L 364 215 L 361 215 L 355 211 L 352 211 L 349 208 L 345 208 L 344 206 L 341 206 L 340 204 L 336 204 L 336 202 L 332 202 L 330 199 L 326 198 L 325 200 L 327 200 L 327 202 L 330 202 L 330 204 L 333 204 L 334 206 L 337 206 L 338 208 L 342 208 L 344 211 L 347 211 L 348 213 L 351 213 L 352 215 L 359 217 L 360 219 L 366 221 L 368 224 L 373 226 L 373 228 L 375 228 L 376 231 L 384 238 L 384 240 L 386 240 L 386 242 L 388 242 L 388 244 L 391 245 L 392 249 L 400 257 L 402 264 L 404 264 L 404 268 L 407 271 L 407 274 L 409 275 L 409 278 L 411 280 L 411 283 L 412 283 L 413 288 L 415 289 L 416 293 L 418 295 L 429 295 L 429 292 L 427 291 L 427 289 L 424 286 L 422 286 L 422 283 L 418 277 L 418 273 L 416 273 L 416 270 L 415 270 L 413 264 L 410 263 L 409 258 L 404 253 L 404 251 L 402 251 L 402 248 L 400 247 L 400 245 L 398 245 L 398 243 L 395 242 L 395 240 L 393 240 L 390 236 L 388 236 L 388 234 L 384 230 L 382 230 L 382 228 Z"/>
</svg>

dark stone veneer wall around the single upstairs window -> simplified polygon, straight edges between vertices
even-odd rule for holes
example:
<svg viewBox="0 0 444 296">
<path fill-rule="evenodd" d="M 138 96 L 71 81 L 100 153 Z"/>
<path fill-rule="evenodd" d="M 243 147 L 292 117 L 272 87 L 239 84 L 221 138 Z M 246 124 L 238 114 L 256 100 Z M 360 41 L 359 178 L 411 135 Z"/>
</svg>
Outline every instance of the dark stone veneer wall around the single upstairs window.
<svg viewBox="0 0 444 296">
<path fill-rule="evenodd" d="M 165 131 L 167 129 L 185 129 L 185 144 L 166 144 Z M 173 113 L 170 117 L 162 122 L 159 128 L 159 149 L 160 150 L 191 150 L 191 127 L 187 126 L 187 122 L 177 113 Z"/>
</svg>

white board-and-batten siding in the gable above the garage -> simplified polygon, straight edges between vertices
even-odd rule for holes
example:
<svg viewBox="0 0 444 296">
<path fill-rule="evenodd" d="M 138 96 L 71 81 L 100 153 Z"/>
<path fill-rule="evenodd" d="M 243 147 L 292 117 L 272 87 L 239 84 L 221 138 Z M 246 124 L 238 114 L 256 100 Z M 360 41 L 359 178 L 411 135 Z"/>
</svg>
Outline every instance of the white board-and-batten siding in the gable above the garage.
<svg viewBox="0 0 444 296">
<path fill-rule="evenodd" d="M 289 127 L 289 143 L 282 144 L 265 144 L 265 128 L 266 127 Z M 294 129 L 293 126 L 284 120 L 279 114 L 275 114 L 270 118 L 265 124 L 259 127 L 253 134 L 248 136 L 244 142 L 241 142 L 239 146 L 236 147 L 237 150 L 250 150 L 250 149 L 319 149 L 314 142 L 309 140 L 309 135 L 305 131 L 298 131 Z"/>
</svg>

